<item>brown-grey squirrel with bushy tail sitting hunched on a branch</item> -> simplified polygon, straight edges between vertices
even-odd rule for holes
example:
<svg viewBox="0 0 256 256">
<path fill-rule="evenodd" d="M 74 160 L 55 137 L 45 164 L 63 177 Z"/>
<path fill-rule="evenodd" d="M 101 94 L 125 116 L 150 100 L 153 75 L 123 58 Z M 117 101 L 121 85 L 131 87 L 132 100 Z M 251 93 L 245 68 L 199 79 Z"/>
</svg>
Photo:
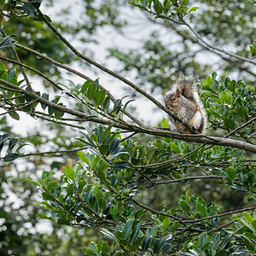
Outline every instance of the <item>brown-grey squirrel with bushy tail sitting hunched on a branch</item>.
<svg viewBox="0 0 256 256">
<path fill-rule="evenodd" d="M 166 108 L 177 114 L 183 123 L 169 116 L 170 130 L 177 133 L 191 134 L 183 125 L 187 123 L 200 133 L 205 132 L 207 115 L 203 108 L 198 89 L 188 79 L 180 80 L 170 94 L 165 97 Z"/>
</svg>

